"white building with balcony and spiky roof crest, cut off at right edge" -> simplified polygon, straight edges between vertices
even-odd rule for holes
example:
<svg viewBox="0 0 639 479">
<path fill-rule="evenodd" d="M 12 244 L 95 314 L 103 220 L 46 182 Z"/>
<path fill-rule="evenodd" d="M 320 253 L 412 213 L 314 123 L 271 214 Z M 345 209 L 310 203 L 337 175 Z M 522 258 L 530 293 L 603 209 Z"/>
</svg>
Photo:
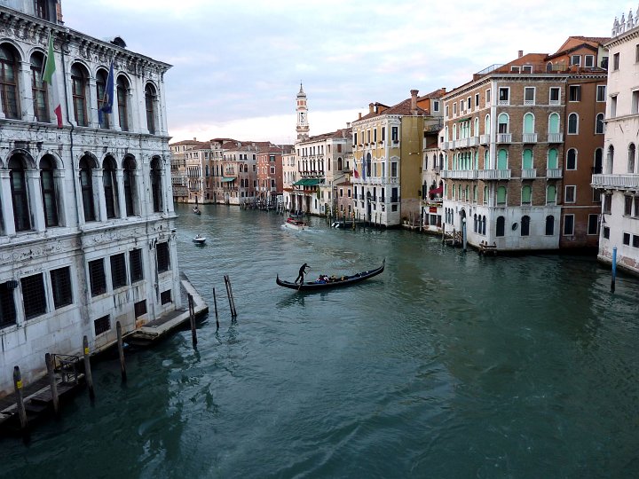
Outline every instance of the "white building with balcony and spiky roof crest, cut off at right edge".
<svg viewBox="0 0 639 479">
<path fill-rule="evenodd" d="M 602 195 L 598 259 L 639 274 L 639 9 L 614 20 L 609 52 L 604 161 L 592 185 Z"/>
</svg>

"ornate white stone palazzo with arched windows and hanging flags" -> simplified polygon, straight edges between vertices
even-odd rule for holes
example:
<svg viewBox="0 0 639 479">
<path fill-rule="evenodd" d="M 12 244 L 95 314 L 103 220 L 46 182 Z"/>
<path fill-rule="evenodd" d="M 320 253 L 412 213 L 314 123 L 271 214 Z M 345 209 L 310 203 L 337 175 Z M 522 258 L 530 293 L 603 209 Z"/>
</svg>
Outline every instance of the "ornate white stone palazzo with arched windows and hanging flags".
<svg viewBox="0 0 639 479">
<path fill-rule="evenodd" d="M 55 0 L 3 4 L 0 396 L 14 365 L 28 383 L 45 353 L 82 354 L 85 335 L 104 348 L 116 321 L 126 334 L 181 306 L 170 65 L 63 26 Z"/>
</svg>

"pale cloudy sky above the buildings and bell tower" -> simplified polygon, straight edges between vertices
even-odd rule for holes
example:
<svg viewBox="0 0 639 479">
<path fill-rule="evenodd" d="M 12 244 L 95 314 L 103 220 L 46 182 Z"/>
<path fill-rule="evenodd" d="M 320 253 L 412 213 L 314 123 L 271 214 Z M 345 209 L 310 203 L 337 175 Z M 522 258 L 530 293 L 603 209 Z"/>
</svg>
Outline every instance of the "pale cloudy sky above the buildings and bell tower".
<svg viewBox="0 0 639 479">
<path fill-rule="evenodd" d="M 293 143 L 300 82 L 311 134 L 569 35 L 608 36 L 637 4 L 599 0 L 63 0 L 67 27 L 170 63 L 172 141 Z"/>
</svg>

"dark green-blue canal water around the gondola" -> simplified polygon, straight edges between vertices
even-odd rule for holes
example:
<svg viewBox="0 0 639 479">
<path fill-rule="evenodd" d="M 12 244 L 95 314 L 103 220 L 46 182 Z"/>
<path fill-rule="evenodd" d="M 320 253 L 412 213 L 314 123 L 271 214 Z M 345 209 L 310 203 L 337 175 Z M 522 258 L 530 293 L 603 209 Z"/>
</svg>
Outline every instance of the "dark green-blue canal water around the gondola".
<svg viewBox="0 0 639 479">
<path fill-rule="evenodd" d="M 639 476 L 637 279 L 611 294 L 592 257 L 201 210 L 177 206 L 181 270 L 210 305 L 197 349 L 183 331 L 131 354 L 124 386 L 99 363 L 95 404 L 0 440 L 1 477 Z M 344 289 L 275 284 L 384 258 Z"/>
</svg>

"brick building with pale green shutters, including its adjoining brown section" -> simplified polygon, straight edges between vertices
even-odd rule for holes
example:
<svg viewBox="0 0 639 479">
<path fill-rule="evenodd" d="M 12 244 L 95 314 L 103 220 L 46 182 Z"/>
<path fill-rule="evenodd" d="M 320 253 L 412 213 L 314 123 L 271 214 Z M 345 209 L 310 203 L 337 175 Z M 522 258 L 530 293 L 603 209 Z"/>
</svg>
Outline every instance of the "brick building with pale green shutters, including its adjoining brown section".
<svg viewBox="0 0 639 479">
<path fill-rule="evenodd" d="M 520 51 L 446 94 L 446 232 L 465 228 L 470 245 L 502 251 L 596 247 L 604 40 Z"/>
</svg>

